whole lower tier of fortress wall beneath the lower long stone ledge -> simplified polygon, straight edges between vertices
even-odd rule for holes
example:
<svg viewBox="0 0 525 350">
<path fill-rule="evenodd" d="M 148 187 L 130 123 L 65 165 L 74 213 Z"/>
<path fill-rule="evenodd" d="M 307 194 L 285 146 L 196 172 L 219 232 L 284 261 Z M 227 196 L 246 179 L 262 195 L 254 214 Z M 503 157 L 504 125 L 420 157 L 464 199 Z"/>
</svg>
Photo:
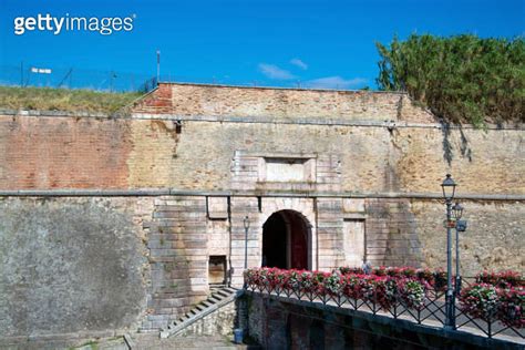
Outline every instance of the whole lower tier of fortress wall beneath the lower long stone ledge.
<svg viewBox="0 0 525 350">
<path fill-rule="evenodd" d="M 231 197 L 234 284 L 241 285 L 245 215 L 251 220 L 248 264 L 257 266 L 268 215 L 295 208 L 316 217 L 308 212 L 313 200 L 262 197 L 259 212 L 257 197 Z M 207 218 L 207 202 L 205 196 L 1 197 L 0 344 L 27 334 L 158 329 L 188 311 L 208 290 L 209 237 L 228 236 L 226 218 Z M 318 198 L 317 222 L 311 220 L 318 241 L 312 258 L 323 270 L 341 265 L 340 202 Z M 483 269 L 525 272 L 523 203 L 463 205 L 464 276 Z M 369 198 L 363 208 L 372 264 L 446 267 L 441 200 Z"/>
</svg>

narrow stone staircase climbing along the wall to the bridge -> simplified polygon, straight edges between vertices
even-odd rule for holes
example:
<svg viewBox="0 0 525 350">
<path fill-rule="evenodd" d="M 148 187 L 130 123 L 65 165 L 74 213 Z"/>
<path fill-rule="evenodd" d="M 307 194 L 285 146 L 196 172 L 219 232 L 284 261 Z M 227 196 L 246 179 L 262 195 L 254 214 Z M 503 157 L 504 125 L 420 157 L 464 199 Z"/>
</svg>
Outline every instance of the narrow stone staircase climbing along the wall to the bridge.
<svg viewBox="0 0 525 350">
<path fill-rule="evenodd" d="M 197 303 L 192 310 L 189 310 L 178 320 L 171 322 L 167 328 L 161 331 L 161 338 L 165 339 L 172 336 L 176 336 L 186 327 L 200 320 L 207 315 L 220 309 L 222 307 L 233 302 L 241 294 L 241 289 L 239 290 L 225 286 L 213 287 L 210 289 L 210 296 L 206 300 Z"/>
</svg>

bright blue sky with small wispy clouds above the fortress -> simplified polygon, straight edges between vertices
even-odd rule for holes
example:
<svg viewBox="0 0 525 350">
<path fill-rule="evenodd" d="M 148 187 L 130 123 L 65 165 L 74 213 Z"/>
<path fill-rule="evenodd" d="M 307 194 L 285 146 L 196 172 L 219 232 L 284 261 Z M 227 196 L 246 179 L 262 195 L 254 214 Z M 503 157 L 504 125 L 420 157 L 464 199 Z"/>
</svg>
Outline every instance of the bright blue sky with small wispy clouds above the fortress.
<svg viewBox="0 0 525 350">
<path fill-rule="evenodd" d="M 412 32 L 523 35 L 525 1 L 0 0 L 0 65 L 156 74 L 164 80 L 359 89 L 375 86 L 375 41 Z M 17 17 L 130 17 L 131 32 L 31 31 Z M 74 73 L 73 73 L 74 74 Z M 93 78 L 94 79 L 94 78 Z"/>
</svg>

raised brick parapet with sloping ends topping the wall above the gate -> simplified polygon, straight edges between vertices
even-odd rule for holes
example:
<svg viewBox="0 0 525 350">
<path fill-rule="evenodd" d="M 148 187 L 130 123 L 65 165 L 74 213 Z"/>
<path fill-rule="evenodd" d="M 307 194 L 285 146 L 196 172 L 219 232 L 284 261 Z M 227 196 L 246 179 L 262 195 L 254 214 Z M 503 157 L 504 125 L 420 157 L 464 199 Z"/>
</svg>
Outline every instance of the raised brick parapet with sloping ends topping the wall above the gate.
<svg viewBox="0 0 525 350">
<path fill-rule="evenodd" d="M 412 121 L 434 117 L 402 93 L 163 84 L 133 109 L 137 114 L 262 116 L 270 120 Z"/>
</svg>

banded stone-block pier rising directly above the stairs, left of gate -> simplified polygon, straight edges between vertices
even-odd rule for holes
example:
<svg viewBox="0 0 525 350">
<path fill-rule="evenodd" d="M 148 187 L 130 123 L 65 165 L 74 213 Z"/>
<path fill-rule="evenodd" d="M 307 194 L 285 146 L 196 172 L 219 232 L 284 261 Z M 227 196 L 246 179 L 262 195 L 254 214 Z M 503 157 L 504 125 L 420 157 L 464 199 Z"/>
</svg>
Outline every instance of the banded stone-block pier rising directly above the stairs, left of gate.
<svg viewBox="0 0 525 350">
<path fill-rule="evenodd" d="M 152 220 L 144 223 L 152 269 L 145 330 L 166 327 L 208 292 L 206 197 L 154 202 Z"/>
</svg>

